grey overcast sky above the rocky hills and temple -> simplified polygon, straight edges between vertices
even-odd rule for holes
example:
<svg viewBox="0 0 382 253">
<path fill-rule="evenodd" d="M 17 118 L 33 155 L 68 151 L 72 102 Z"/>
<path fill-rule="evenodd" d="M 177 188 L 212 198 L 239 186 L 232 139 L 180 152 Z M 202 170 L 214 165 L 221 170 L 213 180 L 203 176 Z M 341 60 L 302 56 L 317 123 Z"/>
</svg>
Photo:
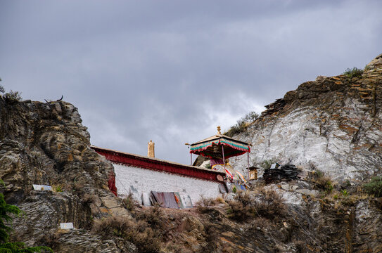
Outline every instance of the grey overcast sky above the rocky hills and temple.
<svg viewBox="0 0 382 253">
<path fill-rule="evenodd" d="M 0 0 L 0 84 L 79 109 L 91 143 L 193 143 L 382 53 L 382 1 Z"/>
</svg>

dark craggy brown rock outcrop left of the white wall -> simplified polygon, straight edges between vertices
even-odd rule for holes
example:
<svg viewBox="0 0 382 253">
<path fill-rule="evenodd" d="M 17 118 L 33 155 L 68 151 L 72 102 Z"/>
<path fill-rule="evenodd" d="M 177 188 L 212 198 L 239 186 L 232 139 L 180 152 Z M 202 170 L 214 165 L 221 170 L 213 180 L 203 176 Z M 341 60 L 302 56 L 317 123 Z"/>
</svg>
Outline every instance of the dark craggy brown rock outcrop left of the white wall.
<svg viewBox="0 0 382 253">
<path fill-rule="evenodd" d="M 25 212 L 13 223 L 14 240 L 37 245 L 56 233 L 60 223 L 89 229 L 96 218 L 129 216 L 108 190 L 113 166 L 89 148 L 90 136 L 81 122 L 70 103 L 0 98 L 0 177 L 6 183 L 2 191 L 8 203 Z M 33 190 L 32 184 L 53 186 L 53 192 Z M 77 240 L 77 235 L 65 234 L 66 246 L 57 252 L 76 251 Z M 95 247 L 88 252 L 106 251 Z M 128 251 L 115 247 L 110 252 Z"/>
</svg>

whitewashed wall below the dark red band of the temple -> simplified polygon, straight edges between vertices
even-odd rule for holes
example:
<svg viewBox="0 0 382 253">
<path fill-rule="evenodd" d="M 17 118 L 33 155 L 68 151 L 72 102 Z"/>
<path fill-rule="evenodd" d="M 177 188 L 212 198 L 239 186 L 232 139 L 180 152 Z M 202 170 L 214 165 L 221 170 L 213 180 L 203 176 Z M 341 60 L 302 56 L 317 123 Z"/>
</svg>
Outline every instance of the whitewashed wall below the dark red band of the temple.
<svg viewBox="0 0 382 253">
<path fill-rule="evenodd" d="M 202 179 L 193 179 L 188 176 L 178 176 L 151 169 L 130 167 L 122 164 L 113 164 L 115 169 L 115 185 L 118 195 L 129 194 L 130 186 L 142 193 L 150 193 L 151 190 L 159 192 L 177 192 L 183 197 L 189 195 L 195 205 L 204 197 L 219 197 L 219 183 Z"/>
</svg>

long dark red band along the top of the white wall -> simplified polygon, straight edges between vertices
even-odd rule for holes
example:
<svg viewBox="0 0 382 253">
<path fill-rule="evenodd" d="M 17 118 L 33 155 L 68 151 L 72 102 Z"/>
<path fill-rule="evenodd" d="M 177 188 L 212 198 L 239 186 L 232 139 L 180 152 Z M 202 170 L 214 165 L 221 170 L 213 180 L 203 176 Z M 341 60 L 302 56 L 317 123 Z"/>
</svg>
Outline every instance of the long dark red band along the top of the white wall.
<svg viewBox="0 0 382 253">
<path fill-rule="evenodd" d="M 197 179 L 216 181 L 218 183 L 222 183 L 217 180 L 218 175 L 223 176 L 223 178 L 226 176 L 224 172 L 212 171 L 208 169 L 198 169 L 197 167 L 187 166 L 184 164 L 166 162 L 163 160 L 156 160 L 150 157 L 141 157 L 129 153 L 120 153 L 115 150 L 107 150 L 94 146 L 91 146 L 91 148 L 93 148 L 99 155 L 106 157 L 106 160 L 109 160 L 110 162 L 127 164 L 134 167 L 179 174 L 182 176 L 189 176 Z"/>
</svg>

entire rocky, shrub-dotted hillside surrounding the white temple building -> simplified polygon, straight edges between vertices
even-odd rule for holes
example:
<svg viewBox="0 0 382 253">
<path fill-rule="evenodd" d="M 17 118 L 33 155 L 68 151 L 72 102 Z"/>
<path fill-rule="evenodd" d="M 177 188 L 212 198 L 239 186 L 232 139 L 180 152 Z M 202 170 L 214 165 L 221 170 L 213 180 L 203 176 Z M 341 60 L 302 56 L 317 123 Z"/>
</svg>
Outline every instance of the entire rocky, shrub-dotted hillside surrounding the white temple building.
<svg viewBox="0 0 382 253">
<path fill-rule="evenodd" d="M 184 210 L 115 197 L 113 166 L 91 150 L 73 105 L 0 97 L 0 190 L 24 212 L 11 238 L 55 252 L 382 252 L 382 200 L 362 191 L 381 175 L 381 80 L 378 56 L 267 105 L 234 137 L 253 143 L 251 165 L 290 162 L 301 179 L 256 181 Z M 246 157 L 230 162 L 246 167 Z"/>
</svg>

